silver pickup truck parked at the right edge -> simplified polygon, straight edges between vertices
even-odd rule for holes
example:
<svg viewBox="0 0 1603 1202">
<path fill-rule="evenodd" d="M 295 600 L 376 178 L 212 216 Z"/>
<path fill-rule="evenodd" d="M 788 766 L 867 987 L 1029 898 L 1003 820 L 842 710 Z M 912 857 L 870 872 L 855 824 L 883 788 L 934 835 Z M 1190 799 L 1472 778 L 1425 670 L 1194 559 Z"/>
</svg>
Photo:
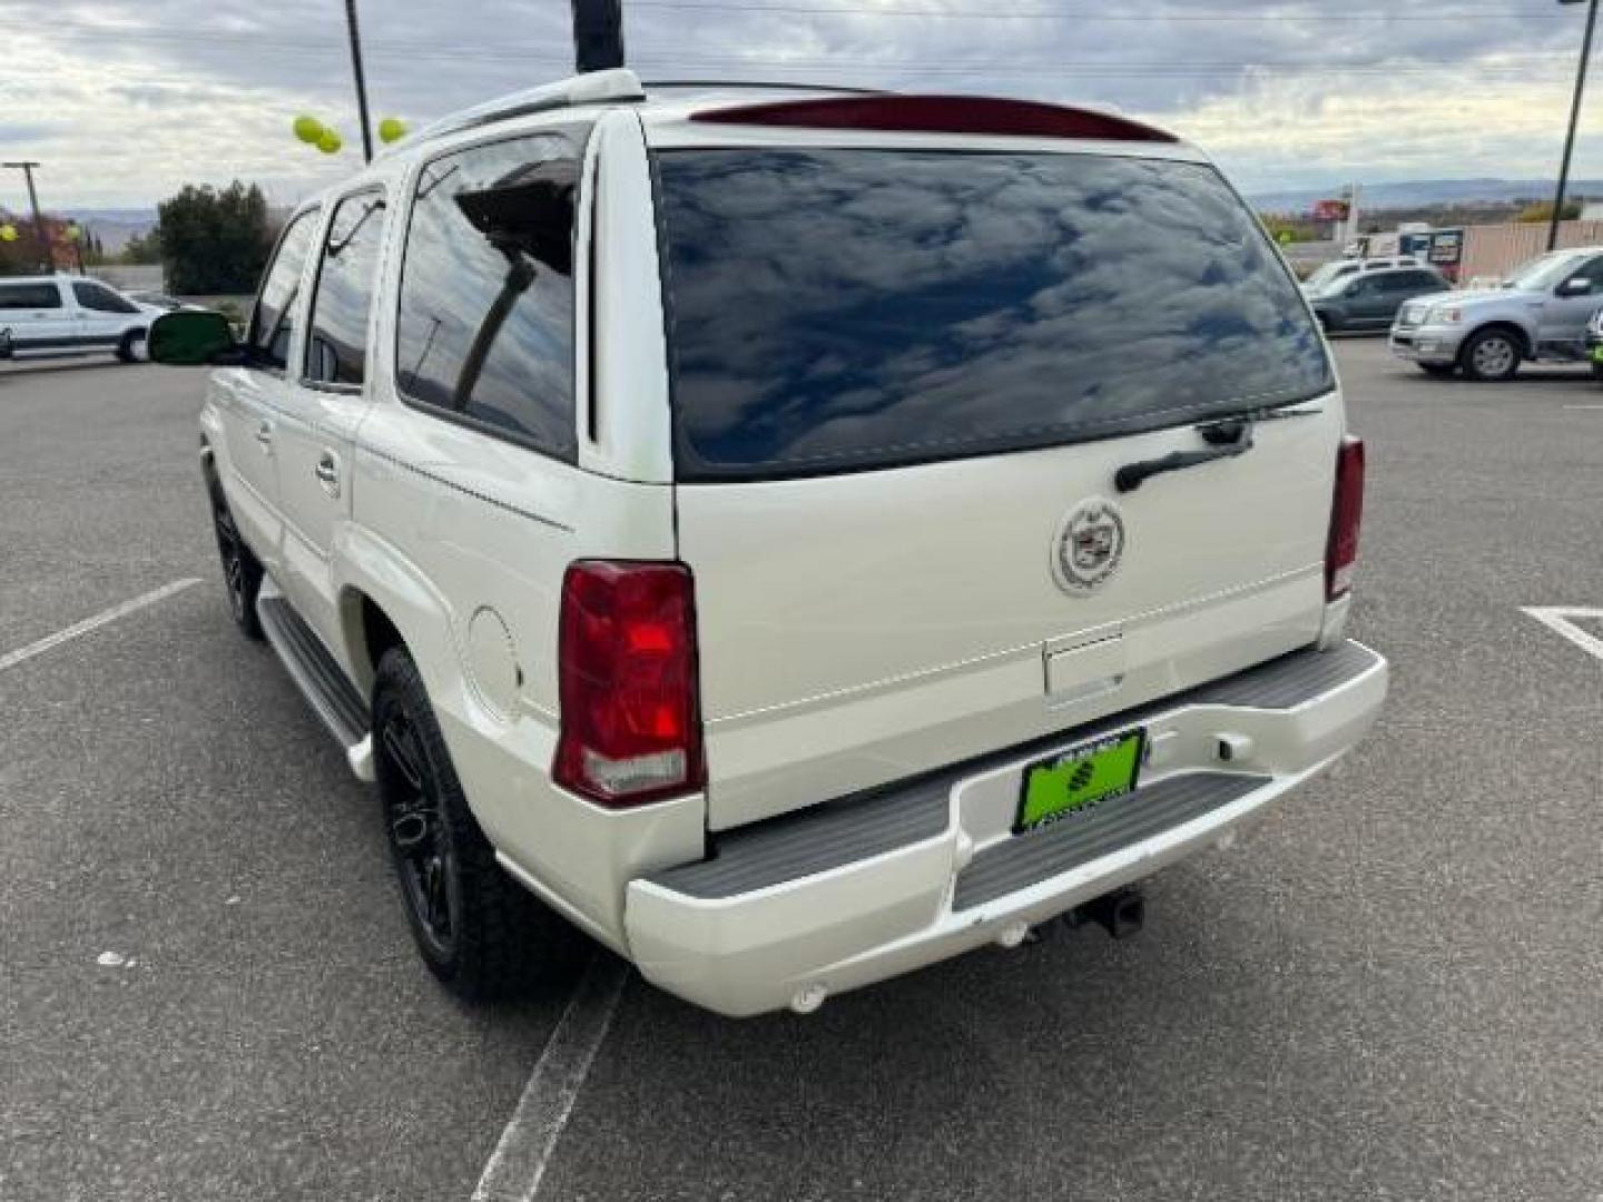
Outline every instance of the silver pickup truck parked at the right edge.
<svg viewBox="0 0 1603 1202">
<path fill-rule="evenodd" d="M 1555 250 L 1484 292 L 1419 296 L 1398 309 L 1391 351 L 1431 375 L 1512 380 L 1526 361 L 1581 362 L 1603 305 L 1603 247 Z"/>
</svg>

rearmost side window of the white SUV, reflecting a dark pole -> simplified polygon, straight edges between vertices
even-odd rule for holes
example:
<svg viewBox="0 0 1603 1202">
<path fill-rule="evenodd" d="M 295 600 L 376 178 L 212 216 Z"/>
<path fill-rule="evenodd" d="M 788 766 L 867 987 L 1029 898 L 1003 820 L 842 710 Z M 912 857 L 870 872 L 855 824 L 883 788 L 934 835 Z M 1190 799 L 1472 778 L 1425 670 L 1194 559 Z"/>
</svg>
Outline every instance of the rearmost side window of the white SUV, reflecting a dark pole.
<svg viewBox="0 0 1603 1202">
<path fill-rule="evenodd" d="M 396 383 L 410 402 L 567 460 L 579 154 L 535 135 L 428 163 L 396 332 Z"/>
</svg>

